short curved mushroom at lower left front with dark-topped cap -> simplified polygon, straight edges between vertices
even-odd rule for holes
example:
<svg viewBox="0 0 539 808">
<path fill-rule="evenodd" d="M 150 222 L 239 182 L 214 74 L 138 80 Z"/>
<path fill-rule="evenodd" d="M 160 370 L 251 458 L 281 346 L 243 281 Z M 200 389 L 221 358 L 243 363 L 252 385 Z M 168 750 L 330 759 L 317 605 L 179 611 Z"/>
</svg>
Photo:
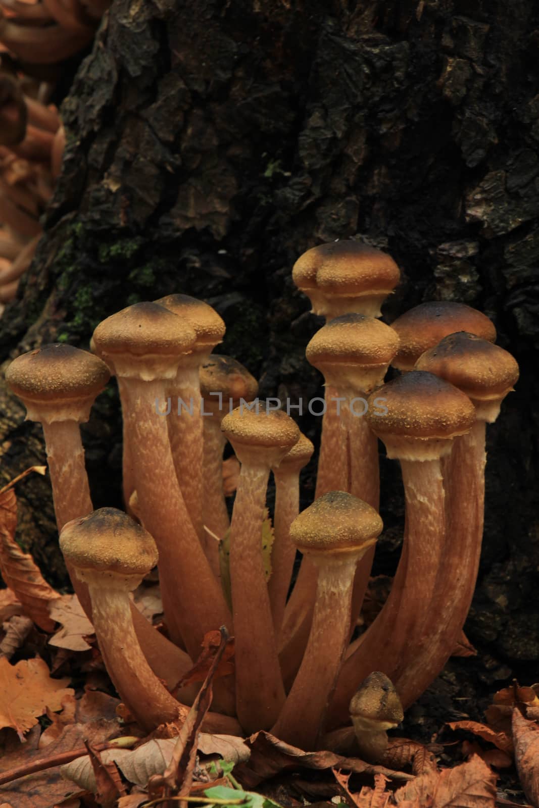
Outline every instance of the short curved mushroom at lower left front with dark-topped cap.
<svg viewBox="0 0 539 808">
<path fill-rule="evenodd" d="M 68 522 L 60 546 L 91 596 L 95 635 L 112 683 L 122 701 L 151 732 L 185 719 L 187 709 L 163 687 L 146 662 L 133 629 L 129 593 L 157 563 L 154 539 L 116 508 L 100 508 Z M 221 731 L 235 722 L 222 717 Z M 214 729 L 215 731 L 215 729 Z"/>
</svg>

